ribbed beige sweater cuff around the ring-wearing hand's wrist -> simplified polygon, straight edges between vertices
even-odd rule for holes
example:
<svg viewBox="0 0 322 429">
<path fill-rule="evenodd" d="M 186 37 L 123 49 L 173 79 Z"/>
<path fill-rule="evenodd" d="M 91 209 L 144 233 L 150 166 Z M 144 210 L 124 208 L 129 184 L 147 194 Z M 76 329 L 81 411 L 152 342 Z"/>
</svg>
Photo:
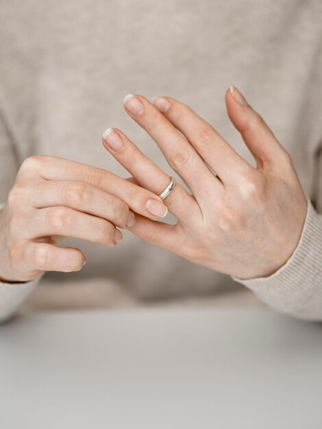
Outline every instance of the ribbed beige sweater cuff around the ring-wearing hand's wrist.
<svg viewBox="0 0 322 429">
<path fill-rule="evenodd" d="M 285 265 L 269 277 L 233 280 L 276 310 L 306 319 L 322 318 L 322 215 L 309 199 L 299 243 Z"/>
</svg>

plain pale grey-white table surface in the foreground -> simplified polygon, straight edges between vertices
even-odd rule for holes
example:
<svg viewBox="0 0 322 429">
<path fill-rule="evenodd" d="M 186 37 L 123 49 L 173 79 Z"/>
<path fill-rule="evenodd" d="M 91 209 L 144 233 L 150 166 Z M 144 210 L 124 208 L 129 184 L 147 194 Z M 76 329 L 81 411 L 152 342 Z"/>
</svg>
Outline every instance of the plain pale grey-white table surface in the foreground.
<svg viewBox="0 0 322 429">
<path fill-rule="evenodd" d="M 322 324 L 236 309 L 20 317 L 0 326 L 0 428 L 321 429 Z"/>
</svg>

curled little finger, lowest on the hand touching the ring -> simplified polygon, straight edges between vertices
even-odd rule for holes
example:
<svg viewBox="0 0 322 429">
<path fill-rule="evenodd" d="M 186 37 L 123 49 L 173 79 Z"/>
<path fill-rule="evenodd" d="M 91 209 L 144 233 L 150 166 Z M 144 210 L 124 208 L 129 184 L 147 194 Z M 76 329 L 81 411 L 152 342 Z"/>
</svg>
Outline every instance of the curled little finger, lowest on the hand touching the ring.
<svg viewBox="0 0 322 429">
<path fill-rule="evenodd" d="M 49 243 L 29 242 L 25 245 L 25 269 L 30 271 L 79 271 L 86 262 L 86 257 L 79 249 L 57 247 Z"/>
</svg>

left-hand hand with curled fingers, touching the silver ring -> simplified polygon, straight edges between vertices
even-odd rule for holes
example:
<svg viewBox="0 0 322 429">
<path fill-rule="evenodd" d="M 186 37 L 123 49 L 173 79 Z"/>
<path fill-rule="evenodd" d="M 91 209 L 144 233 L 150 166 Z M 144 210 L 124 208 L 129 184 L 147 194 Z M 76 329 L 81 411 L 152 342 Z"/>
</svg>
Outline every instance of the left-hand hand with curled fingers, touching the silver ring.
<svg viewBox="0 0 322 429">
<path fill-rule="evenodd" d="M 69 236 L 114 247 L 122 238 L 114 225 L 132 226 L 133 212 L 156 219 L 167 209 L 158 195 L 109 171 L 54 156 L 26 158 L 0 211 L 0 281 L 79 271 L 83 252 L 58 241 Z"/>
</svg>

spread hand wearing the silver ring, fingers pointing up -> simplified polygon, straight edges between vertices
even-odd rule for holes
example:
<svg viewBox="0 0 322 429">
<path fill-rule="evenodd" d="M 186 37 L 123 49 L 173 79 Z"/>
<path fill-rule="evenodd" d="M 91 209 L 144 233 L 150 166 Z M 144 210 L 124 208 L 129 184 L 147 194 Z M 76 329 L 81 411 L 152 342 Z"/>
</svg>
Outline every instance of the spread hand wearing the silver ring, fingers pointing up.
<svg viewBox="0 0 322 429">
<path fill-rule="evenodd" d="M 293 254 L 307 201 L 290 155 L 260 115 L 236 88 L 227 90 L 225 101 L 256 168 L 179 101 L 158 97 L 153 106 L 141 95 L 125 97 L 127 113 L 156 141 L 193 193 L 176 184 L 164 200 L 178 220 L 176 225 L 138 217 L 130 230 L 216 271 L 243 279 L 265 277 Z M 114 130 L 113 135 L 119 146 L 116 150 L 106 140 L 106 149 L 140 186 L 160 194 L 169 176 L 121 131 Z"/>
</svg>

